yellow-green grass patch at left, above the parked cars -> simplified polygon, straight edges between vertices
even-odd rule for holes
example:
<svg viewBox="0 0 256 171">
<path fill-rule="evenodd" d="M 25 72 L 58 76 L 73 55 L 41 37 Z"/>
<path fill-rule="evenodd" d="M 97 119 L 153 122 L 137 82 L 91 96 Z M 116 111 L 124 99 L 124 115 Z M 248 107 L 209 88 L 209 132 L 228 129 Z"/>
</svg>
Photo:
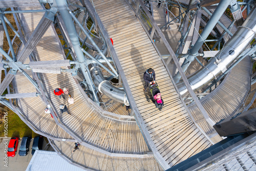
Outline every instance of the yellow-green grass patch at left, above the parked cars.
<svg viewBox="0 0 256 171">
<path fill-rule="evenodd" d="M 8 137 L 37 136 L 13 111 L 8 111 Z M 0 137 L 4 137 L 4 123 L 0 124 Z"/>
</svg>

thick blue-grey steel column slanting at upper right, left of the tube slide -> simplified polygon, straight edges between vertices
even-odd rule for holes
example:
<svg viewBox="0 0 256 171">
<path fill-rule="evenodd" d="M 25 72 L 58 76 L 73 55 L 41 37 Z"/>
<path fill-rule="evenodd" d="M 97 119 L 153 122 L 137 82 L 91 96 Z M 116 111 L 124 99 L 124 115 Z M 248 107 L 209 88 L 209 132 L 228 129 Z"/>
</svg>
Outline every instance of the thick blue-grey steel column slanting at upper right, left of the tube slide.
<svg viewBox="0 0 256 171">
<path fill-rule="evenodd" d="M 198 37 L 195 45 L 193 46 L 193 48 L 191 48 L 188 51 L 188 54 L 185 55 L 185 60 L 182 63 L 182 70 L 185 72 L 188 68 L 188 66 L 190 65 L 190 63 L 195 59 L 196 54 L 198 53 L 199 49 L 202 47 L 202 45 L 204 44 L 204 40 L 206 40 L 206 38 L 209 36 L 210 32 L 212 31 L 212 29 L 216 26 L 216 24 L 219 22 L 220 17 L 222 16 L 222 14 L 225 12 L 226 8 L 228 7 L 228 5 L 230 4 L 232 0 L 222 0 L 218 7 L 216 8 L 216 10 L 214 11 L 214 13 L 211 15 L 207 25 L 205 26 L 205 28 L 203 29 L 200 37 Z M 204 8 L 204 7 L 203 7 Z M 229 31 L 227 31 L 229 32 Z M 178 82 L 181 78 L 180 73 L 178 72 L 176 74 L 176 76 L 174 77 L 175 82 Z"/>
</svg>

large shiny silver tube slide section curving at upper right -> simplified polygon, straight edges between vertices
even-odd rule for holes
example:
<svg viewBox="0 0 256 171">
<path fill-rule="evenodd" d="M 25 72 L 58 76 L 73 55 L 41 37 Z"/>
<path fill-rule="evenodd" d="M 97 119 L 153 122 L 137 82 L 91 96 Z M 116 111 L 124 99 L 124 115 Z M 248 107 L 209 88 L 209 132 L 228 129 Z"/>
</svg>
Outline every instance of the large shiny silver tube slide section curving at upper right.
<svg viewBox="0 0 256 171">
<path fill-rule="evenodd" d="M 250 44 L 255 34 L 256 8 L 254 7 L 243 25 L 238 27 L 237 32 L 228 40 L 224 48 L 216 54 L 216 58 L 212 57 L 204 68 L 187 78 L 193 91 L 201 89 L 224 73 Z M 181 95 L 187 92 L 183 81 L 177 83 L 177 87 Z"/>
</svg>

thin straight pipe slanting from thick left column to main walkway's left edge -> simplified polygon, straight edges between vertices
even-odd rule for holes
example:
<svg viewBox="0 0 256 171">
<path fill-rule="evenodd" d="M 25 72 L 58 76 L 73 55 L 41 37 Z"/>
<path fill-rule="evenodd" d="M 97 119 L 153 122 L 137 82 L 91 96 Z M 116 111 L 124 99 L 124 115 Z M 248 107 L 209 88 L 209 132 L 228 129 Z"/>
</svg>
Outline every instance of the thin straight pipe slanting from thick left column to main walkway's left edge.
<svg viewBox="0 0 256 171">
<path fill-rule="evenodd" d="M 58 0 L 59 1 L 59 0 Z M 110 62 L 108 61 L 108 59 L 106 59 L 105 55 L 100 51 L 99 47 L 95 44 L 95 42 L 93 41 L 92 37 L 87 33 L 87 31 L 83 28 L 83 26 L 80 24 L 80 22 L 78 21 L 78 19 L 75 17 L 75 15 L 69 11 L 71 17 L 75 20 L 76 24 L 78 24 L 78 26 L 82 29 L 83 33 L 86 34 L 86 36 L 88 37 L 88 39 L 92 42 L 93 46 L 97 49 L 97 51 L 99 52 L 99 54 L 102 56 L 103 59 L 105 59 L 106 63 L 108 63 L 109 67 L 111 68 L 111 70 L 115 73 L 115 76 L 118 77 L 118 74 L 116 72 L 116 70 L 114 69 L 114 67 L 110 64 Z"/>
</svg>

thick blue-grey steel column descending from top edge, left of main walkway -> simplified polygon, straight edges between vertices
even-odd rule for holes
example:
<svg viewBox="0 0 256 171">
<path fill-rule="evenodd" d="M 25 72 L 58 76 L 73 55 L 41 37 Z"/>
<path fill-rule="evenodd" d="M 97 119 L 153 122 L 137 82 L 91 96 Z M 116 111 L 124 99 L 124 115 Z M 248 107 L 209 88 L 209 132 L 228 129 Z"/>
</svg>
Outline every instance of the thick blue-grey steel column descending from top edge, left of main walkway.
<svg viewBox="0 0 256 171">
<path fill-rule="evenodd" d="M 80 66 L 80 69 L 83 73 L 83 76 L 86 78 L 86 81 L 89 82 L 91 91 L 93 92 L 93 96 L 94 96 L 96 102 L 99 104 L 98 97 L 97 97 L 97 95 L 94 91 L 91 75 L 88 74 L 89 70 L 87 69 L 86 65 L 84 65 L 84 61 L 86 59 L 84 58 L 83 52 L 80 49 L 80 41 L 77 37 L 77 33 L 76 33 L 76 29 L 75 29 L 72 17 L 71 17 L 71 15 L 69 14 L 69 12 L 67 10 L 67 7 L 68 7 L 67 1 L 56 0 L 56 4 L 57 4 L 58 10 L 59 10 L 62 18 L 65 18 L 65 19 L 63 19 L 63 22 L 64 22 L 64 24 L 67 28 L 67 31 L 68 31 L 68 34 L 70 36 L 70 40 L 72 42 L 74 51 L 77 55 L 77 60 L 79 62 L 81 62 L 79 66 Z"/>
</svg>

